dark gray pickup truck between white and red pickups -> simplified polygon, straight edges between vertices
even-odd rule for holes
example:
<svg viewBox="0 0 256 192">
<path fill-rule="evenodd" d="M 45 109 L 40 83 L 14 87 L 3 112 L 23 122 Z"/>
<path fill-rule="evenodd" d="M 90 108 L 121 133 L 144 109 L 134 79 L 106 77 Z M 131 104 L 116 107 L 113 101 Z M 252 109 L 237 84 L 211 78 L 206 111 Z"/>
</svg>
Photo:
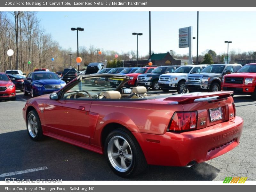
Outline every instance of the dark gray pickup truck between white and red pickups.
<svg viewBox="0 0 256 192">
<path fill-rule="evenodd" d="M 190 74 L 186 80 L 188 90 L 206 90 L 209 92 L 220 91 L 222 77 L 229 73 L 235 73 L 240 64 L 214 64 L 204 68 L 200 73 Z"/>
</svg>

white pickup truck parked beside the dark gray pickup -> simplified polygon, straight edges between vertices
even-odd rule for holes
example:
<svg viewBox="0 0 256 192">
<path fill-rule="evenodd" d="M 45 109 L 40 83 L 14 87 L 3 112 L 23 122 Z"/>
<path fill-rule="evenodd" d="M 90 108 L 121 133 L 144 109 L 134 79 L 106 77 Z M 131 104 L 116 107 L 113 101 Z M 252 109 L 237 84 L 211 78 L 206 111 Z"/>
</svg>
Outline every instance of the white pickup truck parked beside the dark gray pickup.
<svg viewBox="0 0 256 192">
<path fill-rule="evenodd" d="M 184 65 L 172 73 L 160 75 L 158 85 L 163 91 L 176 89 L 177 92 L 185 88 L 187 76 L 192 73 L 199 73 L 207 65 Z"/>
</svg>

